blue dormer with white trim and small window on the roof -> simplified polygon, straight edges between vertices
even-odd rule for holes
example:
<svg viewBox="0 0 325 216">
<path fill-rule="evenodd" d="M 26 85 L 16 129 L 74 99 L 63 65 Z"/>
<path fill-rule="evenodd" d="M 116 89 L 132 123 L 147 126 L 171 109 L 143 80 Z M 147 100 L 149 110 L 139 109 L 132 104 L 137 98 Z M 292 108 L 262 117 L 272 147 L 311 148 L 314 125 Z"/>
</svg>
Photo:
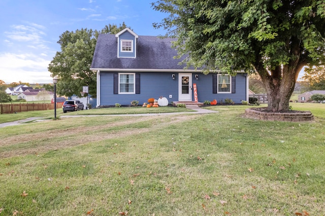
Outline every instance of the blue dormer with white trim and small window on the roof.
<svg viewBox="0 0 325 216">
<path fill-rule="evenodd" d="M 129 28 L 124 28 L 117 34 L 115 38 L 117 41 L 117 57 L 118 58 L 136 58 L 137 57 L 137 39 L 138 34 Z"/>
</svg>

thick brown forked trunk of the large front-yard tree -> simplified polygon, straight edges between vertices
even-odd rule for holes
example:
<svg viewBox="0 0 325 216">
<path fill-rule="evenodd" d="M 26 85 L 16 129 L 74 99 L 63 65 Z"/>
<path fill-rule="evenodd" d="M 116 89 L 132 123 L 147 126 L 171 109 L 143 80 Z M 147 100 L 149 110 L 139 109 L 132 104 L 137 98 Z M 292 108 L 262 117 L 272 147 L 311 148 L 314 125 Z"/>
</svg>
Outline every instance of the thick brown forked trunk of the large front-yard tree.
<svg viewBox="0 0 325 216">
<path fill-rule="evenodd" d="M 290 97 L 302 67 L 301 62 L 290 61 L 289 64 L 278 66 L 269 72 L 262 65 L 255 65 L 267 91 L 269 111 L 289 110 Z"/>
</svg>

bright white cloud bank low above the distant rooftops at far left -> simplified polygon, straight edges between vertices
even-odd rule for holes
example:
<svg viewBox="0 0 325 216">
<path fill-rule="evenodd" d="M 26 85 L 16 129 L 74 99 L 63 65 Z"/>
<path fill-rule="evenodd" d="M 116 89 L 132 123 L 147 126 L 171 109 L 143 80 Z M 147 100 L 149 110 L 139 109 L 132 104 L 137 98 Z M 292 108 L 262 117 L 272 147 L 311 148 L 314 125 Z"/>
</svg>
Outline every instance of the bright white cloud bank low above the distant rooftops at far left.
<svg viewBox="0 0 325 216">
<path fill-rule="evenodd" d="M 44 56 L 41 54 L 41 56 Z M 50 60 L 34 54 L 0 53 L 1 79 L 6 83 L 51 83 Z"/>
</svg>

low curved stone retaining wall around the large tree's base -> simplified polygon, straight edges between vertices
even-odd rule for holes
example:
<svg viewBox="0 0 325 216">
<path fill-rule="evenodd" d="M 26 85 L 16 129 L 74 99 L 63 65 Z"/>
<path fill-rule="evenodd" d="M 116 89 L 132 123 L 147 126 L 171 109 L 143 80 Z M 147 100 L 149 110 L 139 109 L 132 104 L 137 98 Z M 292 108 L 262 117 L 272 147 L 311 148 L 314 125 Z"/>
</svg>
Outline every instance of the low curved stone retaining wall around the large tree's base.
<svg viewBox="0 0 325 216">
<path fill-rule="evenodd" d="M 309 111 L 296 113 L 272 113 L 263 112 L 255 109 L 246 109 L 245 116 L 251 119 L 268 120 L 268 121 L 287 121 L 287 122 L 306 122 L 312 121 L 314 116 Z"/>
</svg>

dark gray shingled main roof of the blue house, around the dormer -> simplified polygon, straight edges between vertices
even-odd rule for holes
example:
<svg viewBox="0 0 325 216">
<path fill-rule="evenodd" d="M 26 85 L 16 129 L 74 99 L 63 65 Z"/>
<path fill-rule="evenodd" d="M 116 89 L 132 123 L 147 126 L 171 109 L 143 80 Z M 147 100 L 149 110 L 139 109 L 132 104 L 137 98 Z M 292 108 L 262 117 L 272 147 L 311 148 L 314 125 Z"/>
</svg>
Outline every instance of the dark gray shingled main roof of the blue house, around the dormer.
<svg viewBox="0 0 325 216">
<path fill-rule="evenodd" d="M 171 48 L 176 39 L 159 39 L 155 36 L 140 36 L 137 40 L 136 58 L 118 58 L 115 34 L 100 34 L 96 43 L 91 69 L 183 69 L 174 59 L 177 52 Z"/>
</svg>

